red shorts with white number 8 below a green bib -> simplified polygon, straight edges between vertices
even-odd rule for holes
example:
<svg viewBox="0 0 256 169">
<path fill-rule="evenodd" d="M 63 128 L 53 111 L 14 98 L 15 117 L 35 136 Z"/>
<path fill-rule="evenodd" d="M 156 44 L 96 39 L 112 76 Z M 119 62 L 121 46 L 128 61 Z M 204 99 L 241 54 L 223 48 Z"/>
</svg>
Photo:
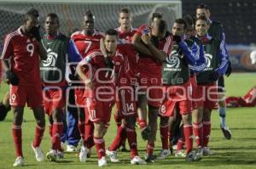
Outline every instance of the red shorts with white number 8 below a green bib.
<svg viewBox="0 0 256 169">
<path fill-rule="evenodd" d="M 179 113 L 186 115 L 191 113 L 191 86 L 186 82 L 179 86 L 164 86 L 166 98 L 160 109 L 160 116 L 173 116 L 175 107 L 178 106 Z"/>
</svg>

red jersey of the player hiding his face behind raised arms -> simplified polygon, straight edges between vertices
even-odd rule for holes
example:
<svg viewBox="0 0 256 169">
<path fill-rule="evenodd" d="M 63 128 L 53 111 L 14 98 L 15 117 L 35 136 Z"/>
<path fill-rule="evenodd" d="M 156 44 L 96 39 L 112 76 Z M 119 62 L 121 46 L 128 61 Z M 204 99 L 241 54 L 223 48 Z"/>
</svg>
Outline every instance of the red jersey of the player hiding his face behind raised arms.
<svg viewBox="0 0 256 169">
<path fill-rule="evenodd" d="M 137 34 L 143 35 L 150 32 L 148 25 L 142 25 L 138 28 Z M 170 55 L 172 52 L 172 37 L 167 35 L 160 40 L 158 49 L 164 52 L 167 55 Z M 138 63 L 139 71 L 148 75 L 158 75 L 161 76 L 162 63 L 154 59 L 153 56 L 140 54 L 140 59 Z"/>
</svg>

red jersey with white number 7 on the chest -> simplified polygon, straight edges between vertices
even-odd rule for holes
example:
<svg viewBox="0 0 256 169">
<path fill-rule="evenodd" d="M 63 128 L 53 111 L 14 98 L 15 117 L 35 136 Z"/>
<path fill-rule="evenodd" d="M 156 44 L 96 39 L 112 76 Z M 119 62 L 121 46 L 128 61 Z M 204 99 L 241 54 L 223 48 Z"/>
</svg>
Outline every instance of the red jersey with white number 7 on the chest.
<svg viewBox="0 0 256 169">
<path fill-rule="evenodd" d="M 94 31 L 91 36 L 84 35 L 84 31 L 76 31 L 71 36 L 83 58 L 86 57 L 90 51 L 100 48 L 100 40 L 102 37 L 103 33 L 100 31 Z"/>
</svg>

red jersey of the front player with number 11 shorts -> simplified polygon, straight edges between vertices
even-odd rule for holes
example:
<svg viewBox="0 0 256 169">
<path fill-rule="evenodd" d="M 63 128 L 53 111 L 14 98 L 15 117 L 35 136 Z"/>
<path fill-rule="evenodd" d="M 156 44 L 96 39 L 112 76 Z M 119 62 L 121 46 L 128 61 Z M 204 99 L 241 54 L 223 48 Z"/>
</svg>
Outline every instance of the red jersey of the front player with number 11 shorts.
<svg viewBox="0 0 256 169">
<path fill-rule="evenodd" d="M 95 98 L 96 94 L 99 96 L 101 92 L 105 93 L 111 92 L 113 89 L 112 71 L 107 71 L 107 66 L 105 64 L 104 56 L 100 49 L 90 51 L 87 56 L 79 62 L 79 65 L 84 65 L 87 70 L 85 76 L 91 79 L 93 84 L 93 90 L 85 89 L 84 97 Z M 101 90 L 99 90 L 101 88 Z M 101 95 L 101 97 L 108 97 Z"/>
</svg>

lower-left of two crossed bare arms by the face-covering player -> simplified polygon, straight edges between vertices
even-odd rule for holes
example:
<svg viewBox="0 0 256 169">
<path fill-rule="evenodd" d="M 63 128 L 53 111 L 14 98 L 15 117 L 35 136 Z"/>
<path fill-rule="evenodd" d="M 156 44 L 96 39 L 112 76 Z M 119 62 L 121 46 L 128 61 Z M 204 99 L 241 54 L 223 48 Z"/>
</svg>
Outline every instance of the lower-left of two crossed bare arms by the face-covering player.
<svg viewBox="0 0 256 169">
<path fill-rule="evenodd" d="M 132 37 L 131 44 L 134 48 L 137 49 L 139 53 L 146 54 L 146 55 L 152 55 L 149 48 L 145 46 L 145 44 L 142 41 L 142 35 L 139 33 L 135 33 Z"/>
</svg>

